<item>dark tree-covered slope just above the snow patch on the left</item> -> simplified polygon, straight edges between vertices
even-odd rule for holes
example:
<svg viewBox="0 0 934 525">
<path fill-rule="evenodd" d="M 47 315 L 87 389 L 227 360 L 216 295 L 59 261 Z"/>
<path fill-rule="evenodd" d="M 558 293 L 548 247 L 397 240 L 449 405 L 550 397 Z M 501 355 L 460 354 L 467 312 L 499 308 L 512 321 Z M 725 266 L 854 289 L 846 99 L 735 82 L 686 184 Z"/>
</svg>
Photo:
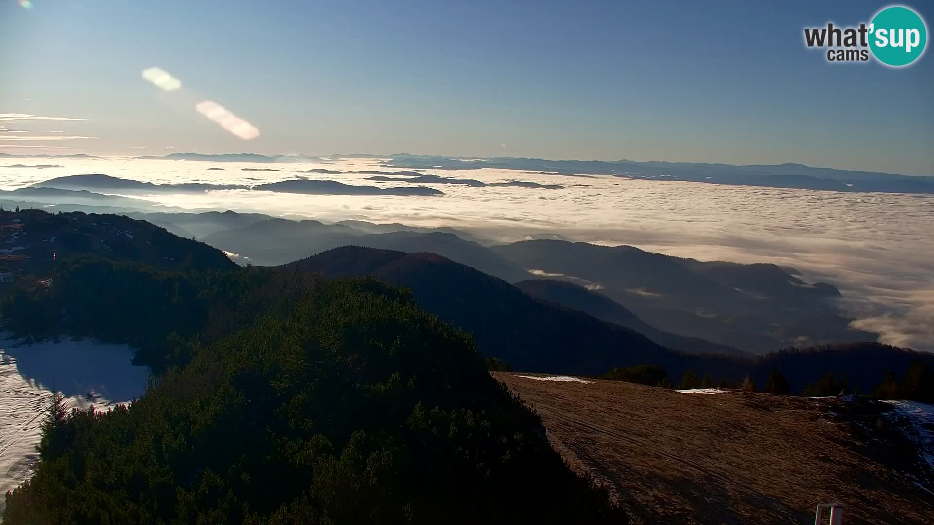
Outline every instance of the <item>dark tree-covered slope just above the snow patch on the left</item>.
<svg viewBox="0 0 934 525">
<path fill-rule="evenodd" d="M 269 270 L 159 270 L 82 256 L 57 262 L 43 284 L 0 301 L 3 329 L 16 336 L 93 337 L 138 348 L 135 362 L 161 372 L 191 358 L 185 341 L 213 340 L 290 297 Z"/>
</svg>

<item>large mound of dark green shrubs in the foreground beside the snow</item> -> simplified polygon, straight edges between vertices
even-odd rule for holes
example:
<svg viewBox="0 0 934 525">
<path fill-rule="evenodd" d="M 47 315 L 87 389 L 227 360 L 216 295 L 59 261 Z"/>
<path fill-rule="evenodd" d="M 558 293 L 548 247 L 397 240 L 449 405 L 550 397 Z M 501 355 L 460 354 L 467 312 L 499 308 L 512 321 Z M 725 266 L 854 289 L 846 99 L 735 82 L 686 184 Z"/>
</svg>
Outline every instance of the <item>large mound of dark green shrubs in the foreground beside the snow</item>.
<svg viewBox="0 0 934 525">
<path fill-rule="evenodd" d="M 466 333 L 374 280 L 290 278 L 128 408 L 53 411 L 7 525 L 628 521 Z"/>
</svg>

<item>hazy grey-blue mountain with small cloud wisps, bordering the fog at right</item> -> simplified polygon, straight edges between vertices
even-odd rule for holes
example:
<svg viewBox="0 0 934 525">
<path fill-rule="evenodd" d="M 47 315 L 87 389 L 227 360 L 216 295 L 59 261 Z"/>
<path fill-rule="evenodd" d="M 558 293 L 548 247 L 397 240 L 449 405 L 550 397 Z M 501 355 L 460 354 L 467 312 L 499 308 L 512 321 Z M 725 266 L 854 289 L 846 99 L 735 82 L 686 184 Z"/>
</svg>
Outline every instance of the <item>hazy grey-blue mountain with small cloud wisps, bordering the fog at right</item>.
<svg viewBox="0 0 934 525">
<path fill-rule="evenodd" d="M 659 330 L 757 354 L 804 343 L 875 341 L 850 329 L 840 292 L 774 264 L 699 262 L 628 246 L 559 240 L 492 247 L 504 259 L 551 277 L 593 283 Z"/>
</svg>

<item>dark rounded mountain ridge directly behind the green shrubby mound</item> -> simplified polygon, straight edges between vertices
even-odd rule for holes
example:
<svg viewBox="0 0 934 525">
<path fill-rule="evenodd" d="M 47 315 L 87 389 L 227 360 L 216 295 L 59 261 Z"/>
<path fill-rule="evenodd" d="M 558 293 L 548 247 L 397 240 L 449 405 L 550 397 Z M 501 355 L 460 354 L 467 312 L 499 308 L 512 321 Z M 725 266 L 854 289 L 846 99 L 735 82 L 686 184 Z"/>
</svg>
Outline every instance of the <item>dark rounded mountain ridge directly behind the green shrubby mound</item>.
<svg viewBox="0 0 934 525">
<path fill-rule="evenodd" d="M 407 286 L 421 307 L 474 333 L 481 353 L 517 370 L 597 375 L 617 365 L 656 362 L 683 371 L 700 360 L 629 328 L 545 304 L 502 279 L 432 253 L 344 247 L 280 268 L 327 278 L 374 275 Z"/>
</svg>

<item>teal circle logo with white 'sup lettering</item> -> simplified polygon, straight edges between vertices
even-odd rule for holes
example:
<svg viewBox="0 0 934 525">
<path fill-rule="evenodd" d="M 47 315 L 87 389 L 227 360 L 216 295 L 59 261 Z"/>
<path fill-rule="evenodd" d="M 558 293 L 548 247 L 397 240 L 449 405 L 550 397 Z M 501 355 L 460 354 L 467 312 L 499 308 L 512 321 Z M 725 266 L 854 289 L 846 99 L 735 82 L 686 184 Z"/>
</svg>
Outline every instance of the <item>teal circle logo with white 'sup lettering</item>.
<svg viewBox="0 0 934 525">
<path fill-rule="evenodd" d="M 879 62 L 900 67 L 925 52 L 927 26 L 908 7 L 885 7 L 870 22 L 870 50 Z"/>
</svg>

